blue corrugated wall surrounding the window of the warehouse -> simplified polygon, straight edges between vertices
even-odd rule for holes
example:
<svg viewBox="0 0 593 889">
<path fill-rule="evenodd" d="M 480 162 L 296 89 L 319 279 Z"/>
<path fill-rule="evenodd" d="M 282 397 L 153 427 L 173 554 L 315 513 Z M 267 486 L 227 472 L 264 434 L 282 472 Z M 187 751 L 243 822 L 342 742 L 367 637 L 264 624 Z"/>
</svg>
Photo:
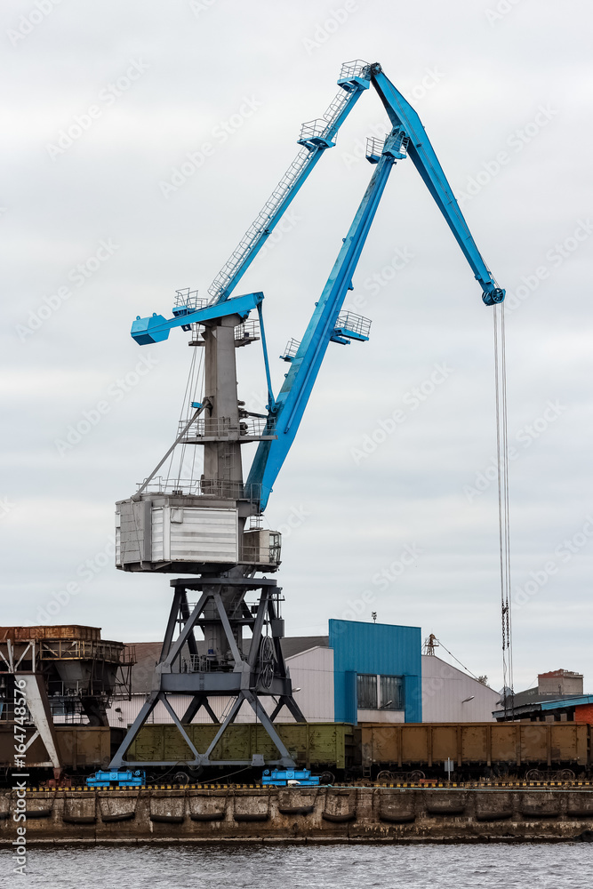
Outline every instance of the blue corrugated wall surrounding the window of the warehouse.
<svg viewBox="0 0 593 889">
<path fill-rule="evenodd" d="M 385 623 L 330 622 L 334 653 L 334 715 L 357 722 L 356 683 L 352 674 L 405 677 L 405 721 L 421 722 L 421 629 Z"/>
</svg>

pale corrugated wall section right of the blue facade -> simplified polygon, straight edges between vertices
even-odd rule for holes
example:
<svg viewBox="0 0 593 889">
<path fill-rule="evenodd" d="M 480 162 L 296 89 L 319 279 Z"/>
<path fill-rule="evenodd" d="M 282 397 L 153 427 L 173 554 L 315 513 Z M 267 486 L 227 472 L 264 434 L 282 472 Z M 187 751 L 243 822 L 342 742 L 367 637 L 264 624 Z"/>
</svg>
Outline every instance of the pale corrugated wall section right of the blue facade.
<svg viewBox="0 0 593 889">
<path fill-rule="evenodd" d="M 500 693 L 467 673 L 422 655 L 422 722 L 493 722 L 500 700 Z"/>
</svg>

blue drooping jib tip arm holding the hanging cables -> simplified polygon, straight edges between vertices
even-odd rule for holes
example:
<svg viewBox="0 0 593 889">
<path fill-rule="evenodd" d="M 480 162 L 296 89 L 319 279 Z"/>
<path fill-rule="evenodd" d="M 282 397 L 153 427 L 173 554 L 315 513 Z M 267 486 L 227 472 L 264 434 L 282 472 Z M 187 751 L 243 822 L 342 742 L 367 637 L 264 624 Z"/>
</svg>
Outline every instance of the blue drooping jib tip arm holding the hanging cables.
<svg viewBox="0 0 593 889">
<path fill-rule="evenodd" d="M 379 93 L 381 101 L 389 115 L 393 126 L 399 127 L 409 139 L 408 155 L 412 163 L 421 174 L 421 178 L 434 197 L 439 210 L 445 216 L 447 225 L 453 231 L 457 243 L 461 247 L 465 258 L 468 260 L 477 281 L 482 287 L 483 296 L 487 306 L 493 306 L 504 300 L 504 290 L 496 284 L 492 272 L 486 266 L 477 244 L 463 217 L 460 206 L 455 200 L 453 190 L 449 185 L 443 167 L 438 162 L 434 148 L 430 144 L 426 130 L 422 126 L 420 117 L 413 107 L 405 100 L 401 92 L 388 80 L 381 71 L 381 65 L 375 63 L 371 66 L 372 83 Z"/>
</svg>

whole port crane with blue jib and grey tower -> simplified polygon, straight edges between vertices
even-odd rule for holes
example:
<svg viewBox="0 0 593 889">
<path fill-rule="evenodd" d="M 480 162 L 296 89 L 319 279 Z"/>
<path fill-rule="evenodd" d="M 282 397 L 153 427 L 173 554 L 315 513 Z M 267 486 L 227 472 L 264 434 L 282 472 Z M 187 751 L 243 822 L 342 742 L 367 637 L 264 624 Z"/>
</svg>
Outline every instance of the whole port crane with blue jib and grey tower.
<svg viewBox="0 0 593 889">
<path fill-rule="evenodd" d="M 342 66 L 338 85 L 339 92 L 324 116 L 302 125 L 295 160 L 214 278 L 208 298 L 198 300 L 196 292 L 178 291 L 172 318 L 138 316 L 132 324 L 132 337 L 140 345 L 166 340 L 176 327 L 191 331 L 189 344 L 204 347 L 204 395 L 201 401 L 191 402 L 193 413 L 180 423 L 172 448 L 137 493 L 118 502 L 116 565 L 124 571 L 196 577 L 171 581 L 172 609 L 151 692 L 110 769 L 146 765 L 125 760 L 124 755 L 159 702 L 191 753 L 188 767 L 202 768 L 216 762 L 294 768 L 294 760 L 273 725 L 283 707 L 298 722 L 304 721 L 293 697 L 280 645 L 284 637 L 279 611 L 281 590 L 267 576 L 280 565 L 280 534 L 264 530 L 260 516 L 290 451 L 330 343 L 345 346 L 369 339 L 371 322 L 343 306 L 346 294 L 353 289 L 358 260 L 397 161 L 412 160 L 468 260 L 485 304 L 495 307 L 504 300 L 504 290 L 477 249 L 419 116 L 383 74 L 381 65 L 348 62 Z M 233 292 L 321 156 L 333 148 L 341 124 L 371 85 L 387 110 L 391 130 L 385 140 L 367 142 L 366 157 L 373 164 L 371 180 L 301 341 L 291 340 L 281 356 L 289 367 L 282 388 L 274 396 L 263 324 L 263 293 L 234 296 Z M 257 313 L 260 337 L 247 329 L 251 313 Z M 237 400 L 236 390 L 236 347 L 259 338 L 268 384 L 265 414 L 246 410 Z M 241 446 L 252 442 L 257 443 L 257 449 L 244 480 Z M 151 489 L 151 481 L 177 445 L 204 447 L 201 477 L 189 480 L 187 487 L 180 479 L 169 486 L 167 478 L 165 485 L 159 482 Z M 266 576 L 258 578 L 257 573 Z M 190 607 L 188 595 L 194 593 L 192 597 L 197 601 Z M 257 603 L 247 605 L 245 597 L 254 593 Z M 246 640 L 242 636 L 245 628 L 252 634 Z M 203 640 L 196 639 L 195 629 L 201 630 Z M 168 701 L 169 694 L 190 699 L 181 717 Z M 229 701 L 220 723 L 209 703 L 217 696 Z M 265 696 L 275 701 L 271 713 L 261 704 Z M 260 753 L 254 753 L 251 760 L 212 759 L 222 734 L 244 703 L 252 708 L 274 742 L 277 759 L 266 759 Z M 205 751 L 196 749 L 187 731 L 201 707 L 218 725 Z M 176 761 L 164 759 L 152 765 L 169 767 Z"/>
</svg>

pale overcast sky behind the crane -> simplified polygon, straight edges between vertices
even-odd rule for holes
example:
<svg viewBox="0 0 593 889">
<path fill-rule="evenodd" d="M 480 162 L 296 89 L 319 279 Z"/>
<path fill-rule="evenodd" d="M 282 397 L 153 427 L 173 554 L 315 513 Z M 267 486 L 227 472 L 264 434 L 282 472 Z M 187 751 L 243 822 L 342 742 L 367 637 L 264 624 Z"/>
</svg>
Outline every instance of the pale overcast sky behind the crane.
<svg viewBox="0 0 593 889">
<path fill-rule="evenodd" d="M 175 436 L 189 349 L 182 332 L 140 348 L 130 325 L 170 316 L 177 288 L 205 295 L 360 58 L 417 109 L 508 291 L 516 688 L 565 668 L 593 691 L 590 4 L 4 0 L 0 15 L 0 622 L 162 637 L 168 577 L 109 554 L 115 501 Z M 372 173 L 361 146 L 387 129 L 371 89 L 237 290 L 266 294 L 276 389 Z M 371 341 L 328 349 L 267 510 L 286 633 L 376 611 L 500 688 L 492 309 L 410 161 L 354 284 Z M 257 410 L 260 347 L 242 352 Z"/>
</svg>

